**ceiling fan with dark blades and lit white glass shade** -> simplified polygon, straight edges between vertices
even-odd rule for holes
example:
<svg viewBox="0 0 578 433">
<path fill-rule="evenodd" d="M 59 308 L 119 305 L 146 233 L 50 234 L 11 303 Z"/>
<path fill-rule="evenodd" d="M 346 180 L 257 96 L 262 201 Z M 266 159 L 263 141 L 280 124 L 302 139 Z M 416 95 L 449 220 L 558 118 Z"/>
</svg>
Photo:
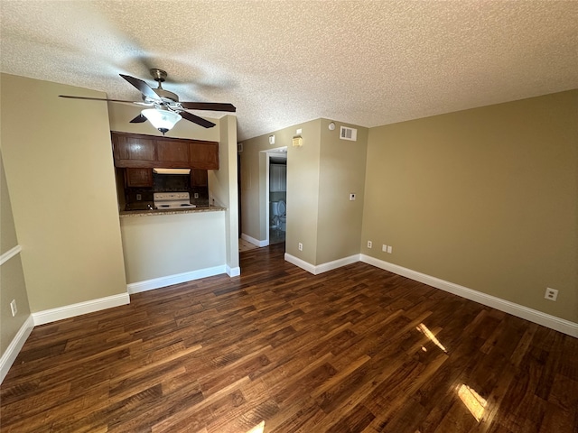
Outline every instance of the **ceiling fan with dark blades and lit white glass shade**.
<svg viewBox="0 0 578 433">
<path fill-rule="evenodd" d="M 163 89 L 162 83 L 167 77 L 166 71 L 163 69 L 150 69 L 154 81 L 158 83 L 158 88 L 151 88 L 142 79 L 130 77 L 129 75 L 119 74 L 125 78 L 130 84 L 137 88 L 143 97 L 141 101 L 123 101 L 120 99 L 107 99 L 100 97 L 70 97 L 66 95 L 59 95 L 60 97 L 69 97 L 71 99 L 89 99 L 93 101 L 109 101 L 109 102 L 124 102 L 128 104 L 136 104 L 139 106 L 147 106 L 140 115 L 137 115 L 131 124 L 141 124 L 147 120 L 154 125 L 163 135 L 171 130 L 181 119 L 188 120 L 194 124 L 200 124 L 205 128 L 212 128 L 215 126 L 207 119 L 203 119 L 198 115 L 193 115 L 186 110 L 210 110 L 210 111 L 228 111 L 234 113 L 237 108 L 232 104 L 221 104 L 218 102 L 181 102 L 179 97 L 168 90 Z"/>
</svg>

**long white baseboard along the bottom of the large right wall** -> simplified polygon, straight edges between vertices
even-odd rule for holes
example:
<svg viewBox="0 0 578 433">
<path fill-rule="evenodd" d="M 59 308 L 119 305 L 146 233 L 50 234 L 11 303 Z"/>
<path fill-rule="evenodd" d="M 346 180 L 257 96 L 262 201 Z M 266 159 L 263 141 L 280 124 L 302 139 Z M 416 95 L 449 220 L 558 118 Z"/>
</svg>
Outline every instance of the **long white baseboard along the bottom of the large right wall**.
<svg viewBox="0 0 578 433">
<path fill-rule="evenodd" d="M 556 318 L 555 316 L 545 314 L 542 311 L 537 311 L 536 309 L 528 309 L 523 305 L 510 302 L 509 300 L 500 299 L 477 290 L 471 290 L 459 284 L 441 280 L 422 272 L 412 271 L 411 269 L 404 268 L 403 266 L 384 262 L 365 254 L 360 254 L 360 260 L 363 263 L 368 263 L 376 266 L 377 268 L 384 269 L 389 272 L 394 272 L 397 275 L 409 278 L 410 280 L 423 282 L 424 284 L 432 286 L 436 289 L 448 291 L 454 295 L 461 296 L 461 298 L 479 302 L 480 304 L 491 307 L 492 309 L 499 309 L 500 311 L 504 311 L 505 313 L 516 316 L 517 318 L 524 318 L 530 322 L 542 325 L 543 327 L 549 327 L 568 336 L 574 336 L 578 338 L 578 323 L 565 320 L 564 318 Z"/>
</svg>

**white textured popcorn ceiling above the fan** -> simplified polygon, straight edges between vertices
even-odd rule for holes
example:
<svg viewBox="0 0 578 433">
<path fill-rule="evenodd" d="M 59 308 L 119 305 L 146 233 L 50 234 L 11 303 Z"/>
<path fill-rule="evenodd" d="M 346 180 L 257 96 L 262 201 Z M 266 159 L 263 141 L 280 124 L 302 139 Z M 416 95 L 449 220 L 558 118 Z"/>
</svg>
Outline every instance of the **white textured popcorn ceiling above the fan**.
<svg viewBox="0 0 578 433">
<path fill-rule="evenodd" d="M 1 12 L 3 72 L 138 100 L 118 74 L 154 86 L 148 69 L 162 68 L 182 100 L 237 106 L 239 140 L 578 88 L 576 1 L 1 0 Z"/>
</svg>

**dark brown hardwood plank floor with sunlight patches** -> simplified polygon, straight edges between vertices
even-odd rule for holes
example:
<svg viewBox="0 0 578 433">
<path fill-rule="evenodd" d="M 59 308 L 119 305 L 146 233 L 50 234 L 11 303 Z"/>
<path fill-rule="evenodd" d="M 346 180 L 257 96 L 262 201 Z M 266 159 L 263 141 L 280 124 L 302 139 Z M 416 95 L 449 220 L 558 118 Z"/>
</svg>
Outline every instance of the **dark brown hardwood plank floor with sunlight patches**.
<svg viewBox="0 0 578 433">
<path fill-rule="evenodd" d="M 2 432 L 577 431 L 578 339 L 283 254 L 36 327 L 1 387 Z"/>
</svg>

